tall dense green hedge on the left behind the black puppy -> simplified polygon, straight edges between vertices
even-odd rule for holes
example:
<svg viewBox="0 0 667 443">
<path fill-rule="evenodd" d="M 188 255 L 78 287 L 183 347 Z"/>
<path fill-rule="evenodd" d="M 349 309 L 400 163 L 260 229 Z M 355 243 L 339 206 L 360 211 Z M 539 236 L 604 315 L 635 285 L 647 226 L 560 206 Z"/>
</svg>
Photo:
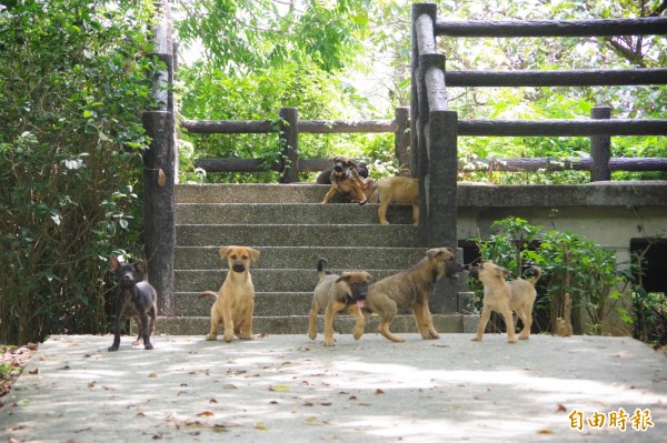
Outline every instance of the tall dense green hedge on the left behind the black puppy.
<svg viewBox="0 0 667 443">
<path fill-rule="evenodd" d="M 139 251 L 152 12 L 0 7 L 0 342 L 106 330 L 107 256 Z"/>
</svg>

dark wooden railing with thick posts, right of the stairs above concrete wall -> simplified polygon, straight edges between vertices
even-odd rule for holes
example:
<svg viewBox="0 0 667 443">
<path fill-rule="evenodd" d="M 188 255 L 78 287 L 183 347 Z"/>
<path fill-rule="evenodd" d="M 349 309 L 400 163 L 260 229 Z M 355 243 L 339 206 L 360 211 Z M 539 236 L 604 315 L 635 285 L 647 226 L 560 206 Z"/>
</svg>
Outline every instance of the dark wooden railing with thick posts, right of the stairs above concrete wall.
<svg viewBox="0 0 667 443">
<path fill-rule="evenodd" d="M 667 34 L 667 19 L 447 21 L 432 3 L 412 4 L 411 145 L 420 182 L 420 232 L 428 245 L 456 245 L 458 135 L 590 137 L 590 159 L 481 159 L 469 168 L 535 171 L 589 170 L 609 180 L 613 170 L 665 171 L 667 159 L 611 159 L 611 135 L 667 135 L 667 120 L 610 120 L 610 109 L 594 108 L 590 120 L 459 120 L 448 108 L 447 87 L 567 87 L 667 84 L 667 70 L 566 70 L 479 72 L 445 70 L 438 37 L 598 37 Z M 427 160 L 428 159 L 428 160 Z M 434 163 L 435 161 L 435 163 Z"/>
</svg>

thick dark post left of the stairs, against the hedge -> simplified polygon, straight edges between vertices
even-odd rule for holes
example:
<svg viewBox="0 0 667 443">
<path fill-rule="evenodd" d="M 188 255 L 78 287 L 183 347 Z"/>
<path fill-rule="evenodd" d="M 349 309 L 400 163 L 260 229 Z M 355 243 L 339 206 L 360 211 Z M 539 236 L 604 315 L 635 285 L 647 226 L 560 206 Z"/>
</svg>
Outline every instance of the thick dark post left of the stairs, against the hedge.
<svg viewBox="0 0 667 443">
<path fill-rule="evenodd" d="M 148 281 L 158 292 L 158 311 L 173 315 L 173 246 L 176 244 L 173 115 L 143 113 L 151 138 L 143 153 L 143 235 Z"/>
</svg>

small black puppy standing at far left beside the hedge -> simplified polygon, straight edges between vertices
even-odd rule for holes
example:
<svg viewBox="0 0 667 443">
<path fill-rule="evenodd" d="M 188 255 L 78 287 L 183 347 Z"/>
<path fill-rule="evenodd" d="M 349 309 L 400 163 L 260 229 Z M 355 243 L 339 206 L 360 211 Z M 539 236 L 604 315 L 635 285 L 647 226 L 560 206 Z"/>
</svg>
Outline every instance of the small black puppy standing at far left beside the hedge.
<svg viewBox="0 0 667 443">
<path fill-rule="evenodd" d="M 137 321 L 139 335 L 133 344 L 141 343 L 143 348 L 151 350 L 152 343 L 150 335 L 156 329 L 156 318 L 158 315 L 158 293 L 147 281 L 137 282 L 137 273 L 141 270 L 141 264 L 120 264 L 113 255 L 109 258 L 109 265 L 116 272 L 118 288 L 116 289 L 116 328 L 113 333 L 113 344 L 109 351 L 118 351 L 120 346 L 120 322 L 127 314 Z M 150 323 L 148 316 L 150 315 Z"/>
</svg>

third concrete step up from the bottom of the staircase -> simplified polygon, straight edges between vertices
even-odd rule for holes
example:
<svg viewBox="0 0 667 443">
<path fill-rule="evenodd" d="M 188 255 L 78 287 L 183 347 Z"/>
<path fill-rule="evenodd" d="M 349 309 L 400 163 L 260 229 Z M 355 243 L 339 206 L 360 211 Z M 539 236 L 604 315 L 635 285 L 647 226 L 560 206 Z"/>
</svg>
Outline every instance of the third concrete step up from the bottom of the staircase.
<svg viewBox="0 0 667 443">
<path fill-rule="evenodd" d="M 336 271 L 336 270 L 334 270 Z M 394 270 L 367 270 L 376 281 L 395 273 Z M 310 292 L 319 278 L 315 269 L 251 269 L 256 292 Z M 176 270 L 176 292 L 218 291 L 227 270 Z"/>
</svg>

